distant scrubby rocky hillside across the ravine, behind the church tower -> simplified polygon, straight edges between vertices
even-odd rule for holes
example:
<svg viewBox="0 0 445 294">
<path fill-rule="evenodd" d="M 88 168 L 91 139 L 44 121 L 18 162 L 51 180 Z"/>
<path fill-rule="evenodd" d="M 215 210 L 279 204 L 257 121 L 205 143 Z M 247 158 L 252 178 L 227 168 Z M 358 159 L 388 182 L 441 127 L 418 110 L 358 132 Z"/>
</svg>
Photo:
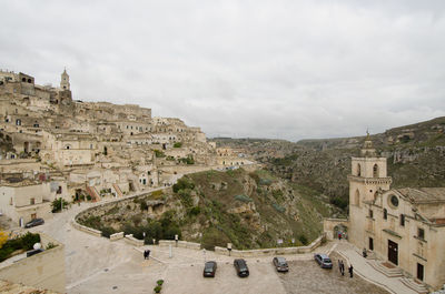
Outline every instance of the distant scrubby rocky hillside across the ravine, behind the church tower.
<svg viewBox="0 0 445 294">
<path fill-rule="evenodd" d="M 393 187 L 445 186 L 445 116 L 389 129 L 370 136 L 387 158 Z M 350 158 L 359 154 L 364 136 L 301 140 L 234 140 L 265 169 L 291 183 L 308 186 L 346 209 Z M 228 141 L 224 142 L 228 143 Z"/>
</svg>

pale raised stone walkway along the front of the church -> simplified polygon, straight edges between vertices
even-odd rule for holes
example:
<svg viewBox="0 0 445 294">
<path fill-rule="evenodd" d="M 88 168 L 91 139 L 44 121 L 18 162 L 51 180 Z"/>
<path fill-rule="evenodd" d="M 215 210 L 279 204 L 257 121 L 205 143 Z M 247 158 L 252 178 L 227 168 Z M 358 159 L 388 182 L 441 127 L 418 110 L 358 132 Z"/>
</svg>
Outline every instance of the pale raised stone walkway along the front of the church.
<svg viewBox="0 0 445 294">
<path fill-rule="evenodd" d="M 349 242 L 334 241 L 333 243 L 336 244 L 335 251 L 346 258 L 348 264 L 353 264 L 354 273 L 359 275 L 362 278 L 379 285 L 390 293 L 416 294 L 415 291 L 403 284 L 398 277 L 387 277 L 375 270 L 367 260 L 358 253 L 359 250 Z"/>
</svg>

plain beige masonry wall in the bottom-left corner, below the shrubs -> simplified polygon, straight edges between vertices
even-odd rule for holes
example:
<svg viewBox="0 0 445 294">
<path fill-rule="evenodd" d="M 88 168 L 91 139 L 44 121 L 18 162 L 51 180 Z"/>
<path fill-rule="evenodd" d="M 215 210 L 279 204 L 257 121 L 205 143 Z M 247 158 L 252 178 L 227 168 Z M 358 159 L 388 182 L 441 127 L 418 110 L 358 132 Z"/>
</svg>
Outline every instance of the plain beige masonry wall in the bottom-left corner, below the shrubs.
<svg viewBox="0 0 445 294">
<path fill-rule="evenodd" d="M 0 268 L 0 278 L 66 293 L 65 245 L 43 233 L 39 234 L 43 249 L 49 243 L 57 246 Z"/>
</svg>

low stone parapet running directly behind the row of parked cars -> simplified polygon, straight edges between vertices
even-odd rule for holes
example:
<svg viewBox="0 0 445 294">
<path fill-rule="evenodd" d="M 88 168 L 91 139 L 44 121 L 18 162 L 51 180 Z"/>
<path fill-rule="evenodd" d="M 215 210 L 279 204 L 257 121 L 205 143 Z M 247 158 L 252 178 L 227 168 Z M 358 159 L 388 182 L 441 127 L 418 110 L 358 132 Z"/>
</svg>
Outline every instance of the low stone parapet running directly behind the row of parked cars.
<svg viewBox="0 0 445 294">
<path fill-rule="evenodd" d="M 273 255 L 286 255 L 286 254 L 298 254 L 298 253 L 309 253 L 318 247 L 323 239 L 325 236 L 322 235 L 317 237 L 310 245 L 307 246 L 298 246 L 298 247 L 275 247 L 275 249 L 260 249 L 260 250 L 235 250 L 233 249 L 230 252 L 231 256 L 235 257 L 256 257 L 256 256 L 273 256 Z M 215 246 L 215 253 L 229 255 L 229 251 L 225 247 Z"/>
</svg>

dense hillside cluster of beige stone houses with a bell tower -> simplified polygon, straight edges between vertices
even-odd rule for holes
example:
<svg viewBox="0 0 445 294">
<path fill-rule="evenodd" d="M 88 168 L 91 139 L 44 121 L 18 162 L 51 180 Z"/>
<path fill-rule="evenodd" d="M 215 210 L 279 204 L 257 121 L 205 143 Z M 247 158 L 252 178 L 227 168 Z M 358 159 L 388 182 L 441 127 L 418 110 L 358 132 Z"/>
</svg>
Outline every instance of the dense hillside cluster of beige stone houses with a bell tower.
<svg viewBox="0 0 445 294">
<path fill-rule="evenodd" d="M 57 88 L 0 71 L 0 136 L 12 144 L 0 152 L 0 210 L 17 223 L 50 217 L 58 197 L 122 196 L 171 185 L 202 166 L 247 163 L 231 155 L 226 163 L 200 128 L 179 119 L 72 100 L 66 70 Z"/>
</svg>

